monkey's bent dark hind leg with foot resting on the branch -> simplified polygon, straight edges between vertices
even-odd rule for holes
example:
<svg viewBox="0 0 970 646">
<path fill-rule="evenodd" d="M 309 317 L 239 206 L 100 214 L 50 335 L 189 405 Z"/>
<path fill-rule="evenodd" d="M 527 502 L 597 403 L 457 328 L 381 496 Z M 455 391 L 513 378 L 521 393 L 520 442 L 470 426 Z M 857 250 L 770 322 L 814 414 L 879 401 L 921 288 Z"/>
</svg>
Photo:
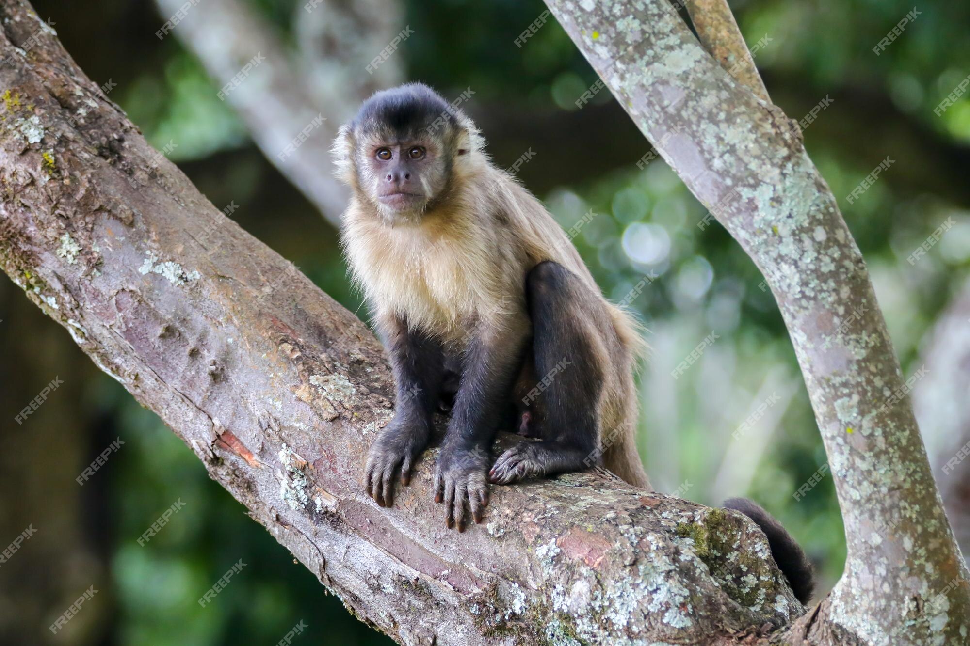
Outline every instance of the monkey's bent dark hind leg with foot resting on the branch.
<svg viewBox="0 0 970 646">
<path fill-rule="evenodd" d="M 536 265 L 526 294 L 537 376 L 528 397 L 542 411 L 543 440 L 505 451 L 489 473 L 498 484 L 598 463 L 598 402 L 608 357 L 596 335 L 608 320 L 589 287 L 559 263 Z"/>
</svg>

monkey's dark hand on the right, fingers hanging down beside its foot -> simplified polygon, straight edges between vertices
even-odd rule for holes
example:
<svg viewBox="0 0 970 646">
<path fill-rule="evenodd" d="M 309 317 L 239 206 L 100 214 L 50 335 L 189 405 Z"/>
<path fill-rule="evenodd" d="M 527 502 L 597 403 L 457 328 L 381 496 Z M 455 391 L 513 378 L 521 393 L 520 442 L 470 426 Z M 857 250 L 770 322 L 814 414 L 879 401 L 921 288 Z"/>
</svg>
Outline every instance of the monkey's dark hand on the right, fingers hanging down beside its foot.
<svg viewBox="0 0 970 646">
<path fill-rule="evenodd" d="M 458 531 L 465 532 L 466 510 L 476 523 L 482 522 L 488 504 L 489 462 L 489 453 L 482 448 L 441 447 L 435 468 L 435 501 L 444 502 L 449 530 L 458 525 Z"/>
</svg>

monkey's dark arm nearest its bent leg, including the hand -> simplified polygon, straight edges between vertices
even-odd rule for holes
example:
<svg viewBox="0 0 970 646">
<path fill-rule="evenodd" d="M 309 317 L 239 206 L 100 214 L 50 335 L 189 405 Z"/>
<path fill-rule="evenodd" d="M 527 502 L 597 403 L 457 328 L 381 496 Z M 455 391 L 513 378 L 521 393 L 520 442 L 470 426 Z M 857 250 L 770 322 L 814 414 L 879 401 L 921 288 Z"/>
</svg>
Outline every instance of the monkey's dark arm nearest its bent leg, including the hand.
<svg viewBox="0 0 970 646">
<path fill-rule="evenodd" d="M 445 503 L 446 524 L 457 523 L 459 532 L 465 529 L 466 506 L 480 523 L 488 504 L 490 448 L 529 334 L 524 314 L 508 319 L 501 326 L 481 326 L 469 342 L 435 469 L 435 501 Z"/>
</svg>

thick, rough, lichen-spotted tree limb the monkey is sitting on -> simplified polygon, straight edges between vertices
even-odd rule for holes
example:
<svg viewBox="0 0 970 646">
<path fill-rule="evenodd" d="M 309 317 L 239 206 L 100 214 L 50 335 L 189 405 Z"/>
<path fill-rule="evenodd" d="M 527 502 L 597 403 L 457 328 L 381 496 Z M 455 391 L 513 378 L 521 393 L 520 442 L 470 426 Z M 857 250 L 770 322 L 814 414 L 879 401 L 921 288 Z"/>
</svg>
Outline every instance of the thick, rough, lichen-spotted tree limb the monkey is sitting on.
<svg viewBox="0 0 970 646">
<path fill-rule="evenodd" d="M 376 506 L 361 467 L 393 391 L 370 331 L 146 145 L 25 0 L 0 19 L 3 270 L 363 621 L 408 644 L 727 644 L 803 612 L 746 518 L 605 472 L 497 488 L 459 534 L 432 450 Z"/>
</svg>

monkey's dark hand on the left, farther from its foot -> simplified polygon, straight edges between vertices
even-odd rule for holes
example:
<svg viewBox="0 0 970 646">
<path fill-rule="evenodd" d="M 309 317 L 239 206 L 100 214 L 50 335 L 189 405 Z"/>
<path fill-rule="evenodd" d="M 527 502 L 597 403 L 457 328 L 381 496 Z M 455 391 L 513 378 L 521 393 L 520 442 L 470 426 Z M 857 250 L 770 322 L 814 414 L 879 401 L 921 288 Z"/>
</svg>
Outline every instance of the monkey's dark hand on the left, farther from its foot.
<svg viewBox="0 0 970 646">
<path fill-rule="evenodd" d="M 394 504 L 394 480 L 401 470 L 401 484 L 411 481 L 411 466 L 428 445 L 431 425 L 397 416 L 371 445 L 367 456 L 366 487 L 368 496 L 382 507 Z"/>
</svg>

